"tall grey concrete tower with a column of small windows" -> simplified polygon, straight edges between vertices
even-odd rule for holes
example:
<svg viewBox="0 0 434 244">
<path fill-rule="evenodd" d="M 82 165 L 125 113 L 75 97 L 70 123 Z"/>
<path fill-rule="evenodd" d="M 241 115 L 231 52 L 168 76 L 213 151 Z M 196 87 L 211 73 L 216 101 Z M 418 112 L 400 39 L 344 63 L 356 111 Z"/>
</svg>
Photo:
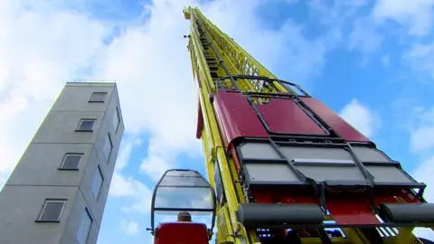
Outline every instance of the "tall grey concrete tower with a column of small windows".
<svg viewBox="0 0 434 244">
<path fill-rule="evenodd" d="M 123 132 L 115 83 L 67 83 L 0 192 L 0 243 L 96 243 Z"/>
</svg>

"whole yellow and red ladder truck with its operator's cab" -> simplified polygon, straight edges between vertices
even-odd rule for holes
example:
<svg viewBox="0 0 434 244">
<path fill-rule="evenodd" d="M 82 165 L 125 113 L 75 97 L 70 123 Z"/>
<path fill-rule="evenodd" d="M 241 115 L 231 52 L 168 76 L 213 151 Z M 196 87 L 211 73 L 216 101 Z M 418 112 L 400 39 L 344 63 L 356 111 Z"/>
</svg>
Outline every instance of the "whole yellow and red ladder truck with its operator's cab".
<svg viewBox="0 0 434 244">
<path fill-rule="evenodd" d="M 187 172 L 209 186 L 212 228 L 154 226 L 156 193 L 176 173 L 168 171 L 152 203 L 156 244 L 434 243 L 412 234 L 434 226 L 424 183 L 306 90 L 279 80 L 199 9 L 184 8 L 184 18 L 209 183 Z"/>
</svg>

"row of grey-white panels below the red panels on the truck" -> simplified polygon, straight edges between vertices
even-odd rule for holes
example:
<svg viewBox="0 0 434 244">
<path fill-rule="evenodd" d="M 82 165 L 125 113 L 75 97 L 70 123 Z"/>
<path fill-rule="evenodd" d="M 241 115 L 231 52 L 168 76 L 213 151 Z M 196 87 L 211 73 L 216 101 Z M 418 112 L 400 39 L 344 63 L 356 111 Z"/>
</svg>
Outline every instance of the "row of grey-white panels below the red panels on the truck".
<svg viewBox="0 0 434 244">
<path fill-rule="evenodd" d="M 354 163 L 352 155 L 343 148 L 306 147 L 280 145 L 280 151 L 297 170 L 316 182 L 364 182 L 362 171 Z M 282 159 L 268 143 L 248 143 L 241 147 L 243 158 Z M 381 151 L 354 146 L 354 153 L 362 162 L 392 162 Z M 288 164 L 246 164 L 250 181 L 298 182 Z M 395 166 L 365 166 L 373 174 L 376 183 L 413 183 Z"/>
</svg>

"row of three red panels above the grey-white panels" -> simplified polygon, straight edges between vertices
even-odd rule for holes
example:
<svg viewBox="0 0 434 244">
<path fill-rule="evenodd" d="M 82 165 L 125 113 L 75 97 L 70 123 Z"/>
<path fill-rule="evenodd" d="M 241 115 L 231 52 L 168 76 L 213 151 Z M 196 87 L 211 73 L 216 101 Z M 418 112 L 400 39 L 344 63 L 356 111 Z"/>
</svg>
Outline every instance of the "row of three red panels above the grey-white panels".
<svg viewBox="0 0 434 244">
<path fill-rule="evenodd" d="M 371 142 L 366 136 L 350 126 L 333 110 L 314 98 L 300 98 L 307 108 L 335 130 L 335 133 L 349 142 Z M 221 90 L 213 102 L 226 146 L 240 137 L 269 137 L 250 103 L 241 93 Z M 270 129 L 277 133 L 325 136 L 325 131 L 316 125 L 292 99 L 271 99 L 267 104 L 258 105 Z M 202 112 L 201 112 L 202 115 Z M 202 117 L 202 116 L 199 116 Z M 201 118 L 203 119 L 203 118 Z M 202 124 L 201 124 L 202 123 Z M 202 131 L 203 121 L 198 121 L 198 131 Z M 196 137 L 198 134 L 196 133 Z"/>
</svg>

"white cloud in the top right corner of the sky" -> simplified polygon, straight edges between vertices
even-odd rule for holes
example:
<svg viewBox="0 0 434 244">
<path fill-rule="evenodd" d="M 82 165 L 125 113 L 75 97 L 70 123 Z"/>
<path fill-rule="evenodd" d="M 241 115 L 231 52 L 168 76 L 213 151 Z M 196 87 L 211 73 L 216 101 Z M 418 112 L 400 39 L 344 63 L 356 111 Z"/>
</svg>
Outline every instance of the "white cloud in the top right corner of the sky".
<svg viewBox="0 0 434 244">
<path fill-rule="evenodd" d="M 380 0 L 373 8 L 377 22 L 392 20 L 408 26 L 412 35 L 425 35 L 432 30 L 433 0 Z"/>
</svg>

